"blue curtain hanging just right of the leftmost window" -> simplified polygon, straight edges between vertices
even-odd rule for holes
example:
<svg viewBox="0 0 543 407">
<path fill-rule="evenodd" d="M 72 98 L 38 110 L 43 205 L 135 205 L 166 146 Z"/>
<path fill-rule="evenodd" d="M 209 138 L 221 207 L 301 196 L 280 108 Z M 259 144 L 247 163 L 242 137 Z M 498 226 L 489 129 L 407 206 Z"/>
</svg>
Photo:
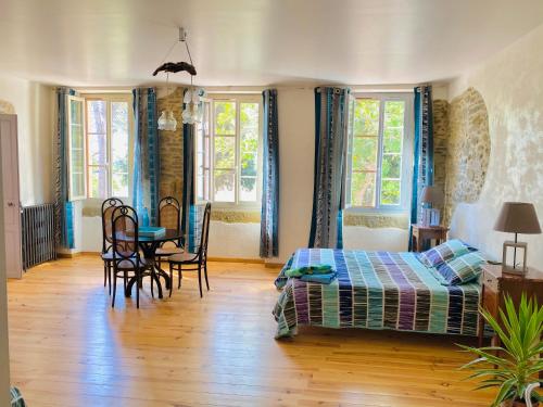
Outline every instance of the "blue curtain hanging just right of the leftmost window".
<svg viewBox="0 0 543 407">
<path fill-rule="evenodd" d="M 132 90 L 134 188 L 132 206 L 141 225 L 156 225 L 159 217 L 160 145 L 154 88 Z"/>
</svg>

